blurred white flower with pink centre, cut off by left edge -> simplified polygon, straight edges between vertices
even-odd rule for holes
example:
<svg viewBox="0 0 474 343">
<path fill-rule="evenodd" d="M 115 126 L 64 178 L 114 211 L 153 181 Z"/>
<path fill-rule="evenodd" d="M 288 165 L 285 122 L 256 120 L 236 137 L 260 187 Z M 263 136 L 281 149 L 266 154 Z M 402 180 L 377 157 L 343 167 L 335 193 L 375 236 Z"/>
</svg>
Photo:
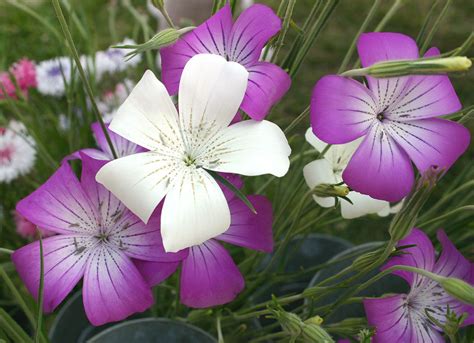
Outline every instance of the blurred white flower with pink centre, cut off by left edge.
<svg viewBox="0 0 474 343">
<path fill-rule="evenodd" d="M 35 160 L 35 141 L 22 123 L 12 120 L 7 128 L 0 128 L 0 182 L 27 174 Z"/>
</svg>

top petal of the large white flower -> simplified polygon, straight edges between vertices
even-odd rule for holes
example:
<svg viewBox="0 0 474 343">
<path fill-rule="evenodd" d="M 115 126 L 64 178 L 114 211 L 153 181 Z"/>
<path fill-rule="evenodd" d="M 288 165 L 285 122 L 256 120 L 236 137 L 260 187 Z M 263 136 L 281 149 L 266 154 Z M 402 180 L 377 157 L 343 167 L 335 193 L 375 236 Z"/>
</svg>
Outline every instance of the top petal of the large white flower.
<svg viewBox="0 0 474 343">
<path fill-rule="evenodd" d="M 248 76 L 242 65 L 218 55 L 191 58 L 179 85 L 182 127 L 193 136 L 197 130 L 227 127 L 242 103 Z"/>
</svg>

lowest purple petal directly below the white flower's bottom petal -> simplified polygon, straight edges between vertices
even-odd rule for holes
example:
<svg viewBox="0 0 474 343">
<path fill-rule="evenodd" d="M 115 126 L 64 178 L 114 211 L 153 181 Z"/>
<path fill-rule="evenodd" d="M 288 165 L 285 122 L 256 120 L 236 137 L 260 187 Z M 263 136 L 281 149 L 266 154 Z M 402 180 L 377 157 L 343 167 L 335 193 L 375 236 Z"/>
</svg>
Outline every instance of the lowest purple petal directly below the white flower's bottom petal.
<svg viewBox="0 0 474 343">
<path fill-rule="evenodd" d="M 189 249 L 181 271 L 181 302 L 205 308 L 232 301 L 244 288 L 244 279 L 229 253 L 209 240 Z"/>
</svg>

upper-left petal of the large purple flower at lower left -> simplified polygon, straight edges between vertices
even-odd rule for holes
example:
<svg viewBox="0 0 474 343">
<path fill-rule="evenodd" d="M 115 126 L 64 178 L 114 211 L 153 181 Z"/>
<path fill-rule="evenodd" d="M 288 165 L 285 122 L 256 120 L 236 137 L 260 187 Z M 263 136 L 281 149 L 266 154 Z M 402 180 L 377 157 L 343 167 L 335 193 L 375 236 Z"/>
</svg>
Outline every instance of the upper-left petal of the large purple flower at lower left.
<svg viewBox="0 0 474 343">
<path fill-rule="evenodd" d="M 17 211 L 37 226 L 56 233 L 93 233 L 98 213 L 67 163 L 17 204 Z"/>
</svg>

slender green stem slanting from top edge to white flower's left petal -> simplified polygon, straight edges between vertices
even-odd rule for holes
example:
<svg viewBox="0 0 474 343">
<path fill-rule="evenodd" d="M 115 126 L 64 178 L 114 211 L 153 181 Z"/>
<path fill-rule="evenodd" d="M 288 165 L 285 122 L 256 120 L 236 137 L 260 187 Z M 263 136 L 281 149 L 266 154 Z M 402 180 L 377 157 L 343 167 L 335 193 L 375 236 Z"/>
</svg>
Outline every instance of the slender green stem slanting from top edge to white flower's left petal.
<svg viewBox="0 0 474 343">
<path fill-rule="evenodd" d="M 82 79 L 82 82 L 84 83 L 87 95 L 89 96 L 89 100 L 91 101 L 92 110 L 96 116 L 96 119 L 99 121 L 102 131 L 104 132 L 105 139 L 107 140 L 107 144 L 110 147 L 110 151 L 112 152 L 113 157 L 117 158 L 118 155 L 115 152 L 114 145 L 112 144 L 112 140 L 110 139 L 109 132 L 107 131 L 107 128 L 105 127 L 104 120 L 102 119 L 102 116 L 100 115 L 99 108 L 97 107 L 97 103 L 95 102 L 94 93 L 92 92 L 92 88 L 89 83 L 89 80 L 87 79 L 86 73 L 84 72 L 84 69 L 82 68 L 81 61 L 79 60 L 79 54 L 77 53 L 76 46 L 74 45 L 74 41 L 71 36 L 71 32 L 69 31 L 69 28 L 66 23 L 66 19 L 64 18 L 63 11 L 61 10 L 61 5 L 59 4 L 59 0 L 51 0 L 51 1 L 53 3 L 54 10 L 56 11 L 56 16 L 58 17 L 59 24 L 61 25 L 66 41 L 68 42 L 68 47 L 71 52 L 71 55 L 74 61 L 76 62 L 77 70 L 79 71 L 79 75 Z"/>
</svg>

